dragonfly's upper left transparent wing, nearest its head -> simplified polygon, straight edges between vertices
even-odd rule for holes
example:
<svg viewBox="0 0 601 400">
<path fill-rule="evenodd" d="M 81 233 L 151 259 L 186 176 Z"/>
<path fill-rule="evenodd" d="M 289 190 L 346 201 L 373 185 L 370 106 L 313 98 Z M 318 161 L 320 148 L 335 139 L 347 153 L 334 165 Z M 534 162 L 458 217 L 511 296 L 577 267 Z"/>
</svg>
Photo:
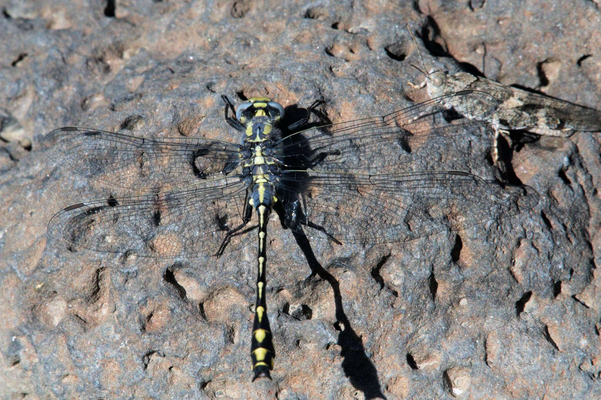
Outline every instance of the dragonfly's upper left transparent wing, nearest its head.
<svg viewBox="0 0 601 400">
<path fill-rule="evenodd" d="M 201 138 L 137 138 L 64 127 L 42 143 L 50 159 L 76 174 L 111 186 L 159 192 L 198 183 L 234 169 L 240 147 Z"/>
</svg>

